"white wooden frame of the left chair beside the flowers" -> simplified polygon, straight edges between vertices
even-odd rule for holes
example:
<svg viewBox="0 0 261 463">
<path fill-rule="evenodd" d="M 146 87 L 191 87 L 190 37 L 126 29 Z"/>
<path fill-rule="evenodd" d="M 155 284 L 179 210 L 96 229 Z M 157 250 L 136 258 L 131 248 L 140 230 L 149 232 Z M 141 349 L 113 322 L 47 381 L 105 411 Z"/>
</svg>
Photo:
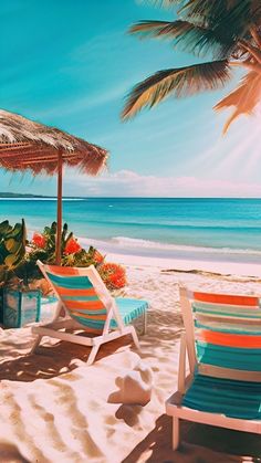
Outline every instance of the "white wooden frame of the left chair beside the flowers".
<svg viewBox="0 0 261 463">
<path fill-rule="evenodd" d="M 122 336 L 130 335 L 133 337 L 133 341 L 136 348 L 139 349 L 138 337 L 137 337 L 134 326 L 124 325 L 114 297 L 109 294 L 100 274 L 97 273 L 96 269 L 93 265 L 90 265 L 88 267 L 80 269 L 79 275 L 88 277 L 98 297 L 103 302 L 105 309 L 107 311 L 107 316 L 106 316 L 106 320 L 105 320 L 102 334 L 98 334 L 96 336 L 95 336 L 95 330 L 92 330 L 91 328 L 87 328 L 84 325 L 77 323 L 69 315 L 65 304 L 63 303 L 61 296 L 59 295 L 54 285 L 50 281 L 49 276 L 46 275 L 45 265 L 41 261 L 38 261 L 38 265 L 41 272 L 43 273 L 44 277 L 46 278 L 46 281 L 50 283 L 50 285 L 54 290 L 59 302 L 58 302 L 58 307 L 56 307 L 54 317 L 50 323 L 32 327 L 32 333 L 36 335 L 36 339 L 33 344 L 31 352 L 34 352 L 35 348 L 41 343 L 41 339 L 43 336 L 50 336 L 50 337 L 58 338 L 61 340 L 66 340 L 70 343 L 80 344 L 82 346 L 92 347 L 91 354 L 87 359 L 87 365 L 92 365 L 94 362 L 94 359 L 102 344 L 109 343 L 111 340 L 121 338 Z M 65 312 L 65 316 L 61 317 L 61 313 L 64 313 L 64 312 Z M 112 318 L 114 318 L 117 323 L 117 327 L 113 329 L 109 327 Z M 61 332 L 61 329 L 65 329 L 65 330 Z M 93 337 L 81 336 L 79 334 L 74 335 L 72 333 L 66 333 L 67 330 L 69 332 L 70 330 L 84 330 L 84 333 L 90 333 Z M 146 330 L 146 311 L 144 313 L 144 333 L 145 330 Z"/>
</svg>

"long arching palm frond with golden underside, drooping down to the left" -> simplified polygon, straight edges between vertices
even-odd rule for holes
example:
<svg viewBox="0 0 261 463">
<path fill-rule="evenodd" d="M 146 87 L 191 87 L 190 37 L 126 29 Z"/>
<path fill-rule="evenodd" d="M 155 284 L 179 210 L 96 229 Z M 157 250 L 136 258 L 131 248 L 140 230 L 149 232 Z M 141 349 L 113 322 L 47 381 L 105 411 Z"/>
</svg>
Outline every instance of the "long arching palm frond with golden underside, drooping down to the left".
<svg viewBox="0 0 261 463">
<path fill-rule="evenodd" d="M 122 117 L 133 117 L 143 107 L 153 107 L 170 95 L 179 98 L 222 87 L 229 78 L 226 60 L 159 71 L 133 88 Z"/>
</svg>

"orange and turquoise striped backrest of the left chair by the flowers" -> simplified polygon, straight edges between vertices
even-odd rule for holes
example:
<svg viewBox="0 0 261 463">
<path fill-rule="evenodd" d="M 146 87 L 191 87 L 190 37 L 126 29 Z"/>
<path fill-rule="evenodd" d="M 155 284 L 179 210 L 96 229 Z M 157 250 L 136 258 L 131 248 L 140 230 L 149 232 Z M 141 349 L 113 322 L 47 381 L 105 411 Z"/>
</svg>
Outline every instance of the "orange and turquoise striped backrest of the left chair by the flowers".
<svg viewBox="0 0 261 463">
<path fill-rule="evenodd" d="M 103 330 L 113 297 L 93 265 L 88 267 L 62 267 L 38 265 L 67 314 L 81 325 Z"/>
</svg>

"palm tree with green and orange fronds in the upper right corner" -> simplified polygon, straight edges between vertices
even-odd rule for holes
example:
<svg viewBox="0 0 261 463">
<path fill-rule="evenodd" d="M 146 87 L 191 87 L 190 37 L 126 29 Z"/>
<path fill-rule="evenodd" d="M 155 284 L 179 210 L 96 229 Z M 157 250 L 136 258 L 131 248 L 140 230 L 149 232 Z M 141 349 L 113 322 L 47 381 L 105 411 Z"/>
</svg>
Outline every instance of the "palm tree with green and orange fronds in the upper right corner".
<svg viewBox="0 0 261 463">
<path fill-rule="evenodd" d="M 241 114 L 251 114 L 261 101 L 261 0 L 150 0 L 160 7 L 179 4 L 176 21 L 140 21 L 129 32 L 140 39 L 170 41 L 175 49 L 211 61 L 158 71 L 137 84 L 127 97 L 122 117 L 135 116 L 168 96 L 192 95 L 223 87 L 233 66 L 248 71 L 238 87 L 215 109 L 233 106 L 223 133 Z"/>
</svg>

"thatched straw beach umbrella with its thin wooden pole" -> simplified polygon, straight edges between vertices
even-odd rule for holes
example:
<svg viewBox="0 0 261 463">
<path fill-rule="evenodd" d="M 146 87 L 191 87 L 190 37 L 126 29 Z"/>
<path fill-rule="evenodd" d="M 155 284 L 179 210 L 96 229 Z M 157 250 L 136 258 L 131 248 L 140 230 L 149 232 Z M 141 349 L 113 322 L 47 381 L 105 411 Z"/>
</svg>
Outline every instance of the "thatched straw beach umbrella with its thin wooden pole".
<svg viewBox="0 0 261 463">
<path fill-rule="evenodd" d="M 56 264 L 61 263 L 63 165 L 97 175 L 106 166 L 107 156 L 105 149 L 82 138 L 0 109 L 0 166 L 12 171 L 31 170 L 33 175 L 58 173 Z"/>
</svg>

